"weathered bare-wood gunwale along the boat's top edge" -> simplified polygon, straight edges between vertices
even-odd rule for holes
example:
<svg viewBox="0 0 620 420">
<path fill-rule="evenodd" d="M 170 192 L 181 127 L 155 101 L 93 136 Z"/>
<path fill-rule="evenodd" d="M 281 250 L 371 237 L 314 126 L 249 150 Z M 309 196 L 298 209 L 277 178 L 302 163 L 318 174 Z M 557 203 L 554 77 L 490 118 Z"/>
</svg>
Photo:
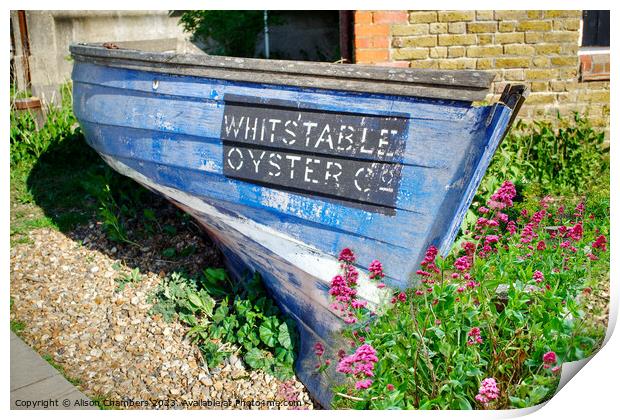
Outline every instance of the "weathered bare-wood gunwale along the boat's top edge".
<svg viewBox="0 0 620 420">
<path fill-rule="evenodd" d="M 466 102 L 484 100 L 495 77 L 492 72 L 479 70 L 412 69 L 148 52 L 106 48 L 101 44 L 72 44 L 69 49 L 76 61 L 110 67 L 259 84 Z"/>
</svg>

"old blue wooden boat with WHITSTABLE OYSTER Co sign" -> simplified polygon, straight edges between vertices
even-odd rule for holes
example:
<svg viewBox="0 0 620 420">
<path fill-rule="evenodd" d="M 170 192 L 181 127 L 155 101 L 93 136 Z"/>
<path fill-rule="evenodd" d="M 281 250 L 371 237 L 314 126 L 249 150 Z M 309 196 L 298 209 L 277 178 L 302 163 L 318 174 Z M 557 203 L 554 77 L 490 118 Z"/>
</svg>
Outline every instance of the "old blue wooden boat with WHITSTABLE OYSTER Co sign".
<svg viewBox="0 0 620 420">
<path fill-rule="evenodd" d="M 106 44 L 104 44 L 106 45 Z M 323 405 L 313 345 L 335 352 L 338 253 L 406 288 L 446 253 L 525 97 L 493 74 L 71 46 L 75 114 L 115 170 L 195 217 L 230 271 L 260 272 L 297 321 L 298 377 Z M 359 295 L 376 288 L 362 275 Z M 330 347 L 331 346 L 331 347 Z"/>
</svg>

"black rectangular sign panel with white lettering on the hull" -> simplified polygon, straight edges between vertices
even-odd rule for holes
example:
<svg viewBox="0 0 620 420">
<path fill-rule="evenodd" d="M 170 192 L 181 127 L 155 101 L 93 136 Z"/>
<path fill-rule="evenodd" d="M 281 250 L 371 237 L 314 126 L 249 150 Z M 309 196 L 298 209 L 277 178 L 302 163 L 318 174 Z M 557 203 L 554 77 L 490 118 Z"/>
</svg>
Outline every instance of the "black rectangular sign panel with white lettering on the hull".
<svg viewBox="0 0 620 420">
<path fill-rule="evenodd" d="M 406 117 L 230 95 L 224 101 L 224 175 L 371 207 L 395 207 Z"/>
</svg>

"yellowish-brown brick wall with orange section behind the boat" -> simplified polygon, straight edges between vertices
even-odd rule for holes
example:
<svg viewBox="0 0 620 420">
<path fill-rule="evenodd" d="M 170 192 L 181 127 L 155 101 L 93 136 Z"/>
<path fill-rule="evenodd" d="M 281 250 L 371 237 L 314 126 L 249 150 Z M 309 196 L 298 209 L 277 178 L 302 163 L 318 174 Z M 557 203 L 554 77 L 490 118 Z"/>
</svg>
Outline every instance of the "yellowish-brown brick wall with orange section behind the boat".
<svg viewBox="0 0 620 420">
<path fill-rule="evenodd" d="M 558 112 L 578 111 L 608 131 L 609 55 L 580 60 L 581 16 L 580 10 L 357 11 L 355 61 L 494 71 L 489 101 L 506 83 L 530 87 L 521 118 L 554 120 Z M 595 65 L 600 72 L 591 76 Z"/>
</svg>

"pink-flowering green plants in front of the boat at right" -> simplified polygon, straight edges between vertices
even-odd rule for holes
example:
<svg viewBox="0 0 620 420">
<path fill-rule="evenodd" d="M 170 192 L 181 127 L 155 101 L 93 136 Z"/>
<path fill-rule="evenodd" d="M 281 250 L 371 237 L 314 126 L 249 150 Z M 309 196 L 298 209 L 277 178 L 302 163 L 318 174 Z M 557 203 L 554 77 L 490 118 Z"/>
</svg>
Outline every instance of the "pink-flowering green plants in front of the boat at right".
<svg viewBox="0 0 620 420">
<path fill-rule="evenodd" d="M 346 377 L 334 385 L 337 407 L 527 407 L 553 395 L 563 362 L 600 348 L 605 325 L 588 308 L 609 281 L 608 198 L 516 203 L 516 194 L 503 183 L 470 236 L 446 259 L 430 247 L 419 285 L 379 308 L 351 292 L 355 258 L 341 253 L 330 294 L 351 325 L 350 347 L 315 347 L 319 372 L 333 357 Z M 369 272 L 383 277 L 378 261 Z"/>
</svg>

